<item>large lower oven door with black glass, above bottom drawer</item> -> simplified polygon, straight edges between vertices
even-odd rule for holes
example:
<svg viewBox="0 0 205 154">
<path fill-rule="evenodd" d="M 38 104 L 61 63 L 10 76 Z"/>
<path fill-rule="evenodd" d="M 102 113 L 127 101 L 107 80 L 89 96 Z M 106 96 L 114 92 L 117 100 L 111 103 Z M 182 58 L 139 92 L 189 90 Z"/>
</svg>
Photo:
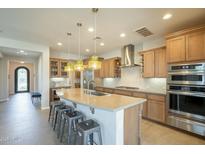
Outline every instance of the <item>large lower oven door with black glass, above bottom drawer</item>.
<svg viewBox="0 0 205 154">
<path fill-rule="evenodd" d="M 192 120 L 205 122 L 205 95 L 168 91 L 168 111 Z"/>
</svg>

